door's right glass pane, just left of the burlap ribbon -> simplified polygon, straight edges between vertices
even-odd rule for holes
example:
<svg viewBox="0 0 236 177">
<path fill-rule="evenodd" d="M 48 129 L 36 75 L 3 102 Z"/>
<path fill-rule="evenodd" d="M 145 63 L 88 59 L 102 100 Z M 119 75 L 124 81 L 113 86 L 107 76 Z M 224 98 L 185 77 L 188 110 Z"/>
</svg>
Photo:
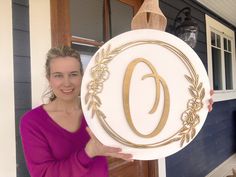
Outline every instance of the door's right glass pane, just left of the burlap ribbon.
<svg viewBox="0 0 236 177">
<path fill-rule="evenodd" d="M 118 0 L 111 0 L 111 36 L 130 31 L 133 8 Z"/>
</svg>

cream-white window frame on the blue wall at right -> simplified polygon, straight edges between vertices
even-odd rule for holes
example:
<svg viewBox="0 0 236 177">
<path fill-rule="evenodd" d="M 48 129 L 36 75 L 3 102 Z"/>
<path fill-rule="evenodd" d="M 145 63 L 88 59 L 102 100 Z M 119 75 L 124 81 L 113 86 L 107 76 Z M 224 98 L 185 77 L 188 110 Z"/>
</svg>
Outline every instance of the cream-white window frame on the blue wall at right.
<svg viewBox="0 0 236 177">
<path fill-rule="evenodd" d="M 225 25 L 221 24 L 217 20 L 213 19 L 212 17 L 205 15 L 206 20 L 206 44 L 207 44 L 207 61 L 208 61 L 208 76 L 210 80 L 211 88 L 213 88 L 213 66 L 212 66 L 212 45 L 211 45 L 211 32 L 220 35 L 221 39 L 221 69 L 222 69 L 222 90 L 215 90 L 214 91 L 214 101 L 226 101 L 231 99 L 236 99 L 236 58 L 235 58 L 235 32 L 226 27 Z M 226 37 L 227 39 L 231 40 L 231 50 L 232 50 L 232 80 L 233 80 L 233 89 L 226 90 L 226 76 L 225 76 L 225 62 L 224 62 L 224 43 L 223 39 Z"/>
</svg>

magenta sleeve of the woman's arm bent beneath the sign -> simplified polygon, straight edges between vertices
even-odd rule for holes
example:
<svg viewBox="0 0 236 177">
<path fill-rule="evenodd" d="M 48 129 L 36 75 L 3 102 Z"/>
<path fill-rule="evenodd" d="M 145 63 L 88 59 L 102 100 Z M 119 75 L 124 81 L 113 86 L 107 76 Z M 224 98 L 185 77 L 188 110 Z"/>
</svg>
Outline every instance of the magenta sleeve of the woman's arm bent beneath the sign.
<svg viewBox="0 0 236 177">
<path fill-rule="evenodd" d="M 68 158 L 53 157 L 47 139 L 28 122 L 21 122 L 21 137 L 25 158 L 32 177 L 82 177 L 91 165 L 84 149 L 74 152 Z"/>
</svg>

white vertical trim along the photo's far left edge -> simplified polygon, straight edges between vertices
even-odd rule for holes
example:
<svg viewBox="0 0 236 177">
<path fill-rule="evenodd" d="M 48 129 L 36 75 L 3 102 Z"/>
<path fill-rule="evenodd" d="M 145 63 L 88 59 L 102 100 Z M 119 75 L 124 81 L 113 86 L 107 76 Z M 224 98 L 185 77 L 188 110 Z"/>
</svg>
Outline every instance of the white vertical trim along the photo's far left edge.
<svg viewBox="0 0 236 177">
<path fill-rule="evenodd" d="M 0 176 L 16 177 L 12 1 L 0 0 Z"/>
</svg>

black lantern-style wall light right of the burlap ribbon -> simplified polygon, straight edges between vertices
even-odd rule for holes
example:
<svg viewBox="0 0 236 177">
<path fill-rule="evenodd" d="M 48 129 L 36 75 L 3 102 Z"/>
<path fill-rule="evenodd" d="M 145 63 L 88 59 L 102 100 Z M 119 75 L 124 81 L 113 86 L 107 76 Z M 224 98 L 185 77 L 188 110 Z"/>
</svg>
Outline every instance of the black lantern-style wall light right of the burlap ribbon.
<svg viewBox="0 0 236 177">
<path fill-rule="evenodd" d="M 185 18 L 183 18 L 183 15 Z M 190 47 L 194 48 L 197 43 L 198 25 L 192 21 L 191 9 L 185 7 L 178 12 L 174 21 L 174 33 L 185 41 Z"/>
</svg>

